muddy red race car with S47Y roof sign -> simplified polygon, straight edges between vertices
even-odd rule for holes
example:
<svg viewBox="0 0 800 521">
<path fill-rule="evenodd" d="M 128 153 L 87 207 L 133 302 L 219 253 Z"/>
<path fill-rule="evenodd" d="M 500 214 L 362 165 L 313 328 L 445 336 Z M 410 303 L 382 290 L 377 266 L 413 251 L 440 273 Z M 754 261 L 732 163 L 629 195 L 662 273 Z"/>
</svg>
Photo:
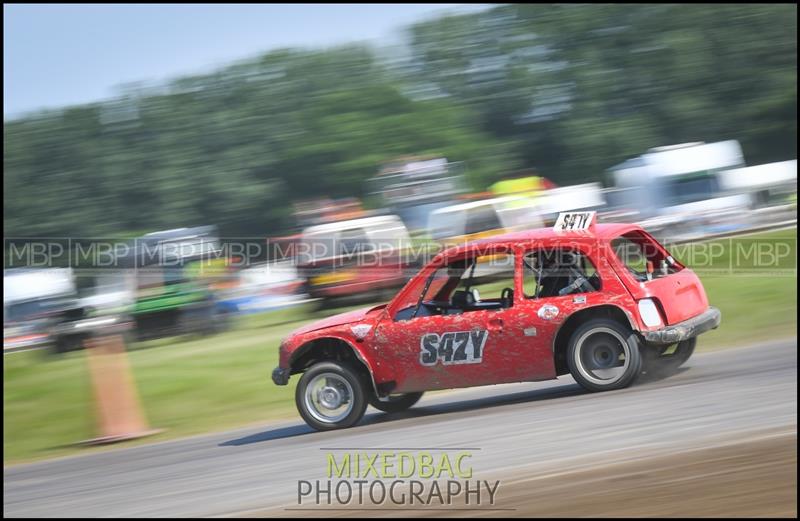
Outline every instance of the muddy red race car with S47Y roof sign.
<svg viewBox="0 0 800 521">
<path fill-rule="evenodd" d="M 607 391 L 669 374 L 721 314 L 641 227 L 595 220 L 561 214 L 552 229 L 443 251 L 388 304 L 294 331 L 272 379 L 302 373 L 297 408 L 329 430 L 357 423 L 367 404 L 402 411 L 436 389 L 570 373 Z"/>
</svg>

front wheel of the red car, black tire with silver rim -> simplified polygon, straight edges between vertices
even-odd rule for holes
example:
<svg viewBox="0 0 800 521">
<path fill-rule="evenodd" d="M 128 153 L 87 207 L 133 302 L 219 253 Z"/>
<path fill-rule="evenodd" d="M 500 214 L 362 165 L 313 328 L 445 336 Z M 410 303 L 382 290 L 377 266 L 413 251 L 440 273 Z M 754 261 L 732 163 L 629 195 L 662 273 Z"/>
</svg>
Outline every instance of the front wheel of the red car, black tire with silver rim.
<svg viewBox="0 0 800 521">
<path fill-rule="evenodd" d="M 313 389 L 307 392 L 309 385 L 316 386 L 323 382 L 322 379 L 324 387 L 316 393 L 316 396 Z M 346 410 L 338 415 L 331 413 L 331 416 L 326 417 L 325 411 L 319 408 L 325 409 L 323 404 L 315 404 L 313 400 L 320 396 L 329 400 L 330 405 L 341 401 Z M 319 362 L 311 366 L 300 378 L 295 390 L 295 404 L 300 416 L 311 428 L 318 431 L 344 429 L 352 427 L 364 416 L 364 411 L 367 409 L 367 387 L 351 367 L 339 362 Z"/>
</svg>

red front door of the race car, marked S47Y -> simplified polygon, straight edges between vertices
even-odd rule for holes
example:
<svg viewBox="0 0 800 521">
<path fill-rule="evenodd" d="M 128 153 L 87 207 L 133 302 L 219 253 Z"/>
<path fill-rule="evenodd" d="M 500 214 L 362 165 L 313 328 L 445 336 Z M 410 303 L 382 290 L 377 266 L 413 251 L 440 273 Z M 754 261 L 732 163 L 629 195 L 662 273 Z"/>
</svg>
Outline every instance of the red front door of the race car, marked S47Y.
<svg viewBox="0 0 800 521">
<path fill-rule="evenodd" d="M 453 262 L 459 260 L 463 259 Z M 481 252 L 475 255 L 475 260 L 476 268 L 482 265 L 484 272 L 494 273 L 480 281 L 471 281 L 477 286 L 471 289 L 486 292 L 473 307 L 458 312 L 459 308 L 424 305 L 420 307 L 422 312 L 413 317 L 386 315 L 379 322 L 376 357 L 384 366 L 382 372 L 391 375 L 387 379 L 394 382 L 393 392 L 516 382 L 535 375 L 537 354 L 524 333 L 525 310 L 516 307 L 516 298 L 504 301 L 500 298 L 504 288 L 517 286 L 515 272 L 519 268 L 515 255 L 504 249 Z M 499 270 L 495 269 L 498 266 Z M 452 264 L 440 269 L 450 268 Z M 431 280 L 439 279 L 434 273 Z M 429 291 L 423 303 L 444 305 L 442 297 L 447 297 L 447 305 L 453 304 L 455 292 L 466 291 L 457 289 L 464 287 L 463 281 L 443 277 L 438 293 Z"/>
</svg>

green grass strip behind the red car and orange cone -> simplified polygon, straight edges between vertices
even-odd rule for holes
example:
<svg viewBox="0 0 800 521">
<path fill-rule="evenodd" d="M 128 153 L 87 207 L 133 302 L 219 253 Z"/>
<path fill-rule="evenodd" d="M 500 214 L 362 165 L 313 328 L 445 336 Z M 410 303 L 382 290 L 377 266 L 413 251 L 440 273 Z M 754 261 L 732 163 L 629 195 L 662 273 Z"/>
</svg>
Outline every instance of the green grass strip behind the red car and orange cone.
<svg viewBox="0 0 800 521">
<path fill-rule="evenodd" d="M 797 336 L 796 238 L 791 229 L 672 248 L 722 310 L 722 326 L 702 337 L 700 350 Z M 321 316 L 297 307 L 240 317 L 233 330 L 213 337 L 134 345 L 129 359 L 145 414 L 165 431 L 132 443 L 279 418 L 300 421 L 297 378 L 278 387 L 270 373 L 280 340 Z M 4 463 L 102 450 L 73 445 L 97 435 L 84 352 L 15 353 L 3 362 Z"/>
</svg>

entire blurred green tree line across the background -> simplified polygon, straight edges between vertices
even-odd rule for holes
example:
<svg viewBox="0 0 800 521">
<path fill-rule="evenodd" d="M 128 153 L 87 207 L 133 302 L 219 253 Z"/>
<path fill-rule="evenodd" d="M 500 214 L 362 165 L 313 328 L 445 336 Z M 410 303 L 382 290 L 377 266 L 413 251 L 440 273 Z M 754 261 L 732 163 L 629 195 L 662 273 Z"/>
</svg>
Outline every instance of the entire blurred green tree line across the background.
<svg viewBox="0 0 800 521">
<path fill-rule="evenodd" d="M 465 162 L 476 190 L 521 168 L 599 180 L 687 141 L 797 156 L 794 5 L 504 5 L 416 24 L 407 51 L 277 50 L 6 121 L 4 232 L 277 233 L 291 202 L 363 197 L 406 154 Z"/>
</svg>

